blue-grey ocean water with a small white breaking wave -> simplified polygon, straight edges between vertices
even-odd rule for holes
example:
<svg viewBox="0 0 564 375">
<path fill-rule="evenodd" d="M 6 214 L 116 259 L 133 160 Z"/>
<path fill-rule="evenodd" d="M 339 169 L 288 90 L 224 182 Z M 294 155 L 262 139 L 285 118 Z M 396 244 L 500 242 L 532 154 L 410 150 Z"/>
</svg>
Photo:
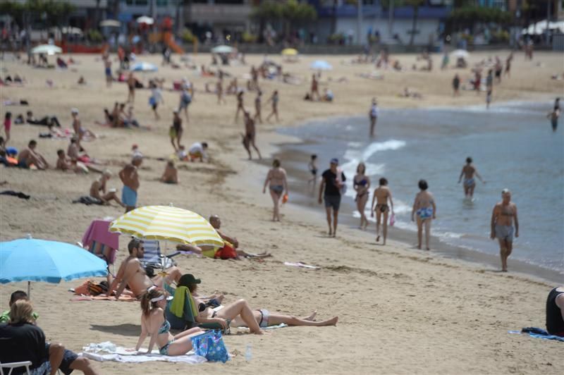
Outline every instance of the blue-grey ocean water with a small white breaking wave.
<svg viewBox="0 0 564 375">
<path fill-rule="evenodd" d="M 331 157 L 338 157 L 350 184 L 364 161 L 372 187 L 380 177 L 388 179 L 396 226 L 407 230 L 416 230 L 410 213 L 417 181 L 424 178 L 437 204 L 432 233 L 448 244 L 488 254 L 498 254 L 497 241 L 489 239 L 491 210 L 507 187 L 520 223 L 512 258 L 564 274 L 564 121 L 560 118 L 553 133 L 546 118 L 551 106 L 513 102 L 489 110 L 383 109 L 374 139 L 368 137 L 364 116 L 315 121 L 281 130 L 305 141 L 288 146 L 303 160 L 284 163 L 307 170 L 306 155 L 317 154 L 322 172 Z M 477 180 L 472 202 L 458 184 L 467 156 L 486 180 Z M 359 217 L 355 192 L 348 187 L 341 215 Z"/>
</svg>

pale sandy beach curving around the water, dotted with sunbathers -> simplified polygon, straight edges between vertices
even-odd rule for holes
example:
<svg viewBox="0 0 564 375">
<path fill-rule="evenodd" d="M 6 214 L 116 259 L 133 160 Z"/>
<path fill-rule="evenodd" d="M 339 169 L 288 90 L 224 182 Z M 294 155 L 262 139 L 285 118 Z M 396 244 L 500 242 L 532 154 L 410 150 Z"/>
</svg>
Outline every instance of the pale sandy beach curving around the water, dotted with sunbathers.
<svg viewBox="0 0 564 375">
<path fill-rule="evenodd" d="M 470 65 L 489 56 L 509 51 L 472 54 Z M 68 57 L 68 56 L 65 56 Z M 273 90 L 279 90 L 281 123 L 257 125 L 257 145 L 265 159 L 277 152 L 276 145 L 300 142 L 275 132 L 280 126 L 298 126 L 312 118 L 350 116 L 367 113 L 372 97 L 382 107 L 431 107 L 484 104 L 485 94 L 462 91 L 452 97 L 450 82 L 459 73 L 462 82 L 470 78 L 470 69 L 439 70 L 441 56 L 434 56 L 434 72 L 379 70 L 383 80 L 360 78 L 371 73 L 370 64 L 345 65 L 350 56 L 323 56 L 333 65 L 324 73 L 321 89 L 330 87 L 336 100 L 331 104 L 305 102 L 309 90 L 309 63 L 320 56 L 303 56 L 298 63 L 284 63 L 284 70 L 302 78 L 302 85 L 281 81 L 260 81 L 263 103 Z M 417 63 L 415 55 L 392 56 L 403 66 Z M 140 170 L 141 187 L 138 205 L 173 204 L 208 217 L 219 214 L 222 230 L 234 235 L 243 250 L 269 251 L 273 257 L 255 260 L 221 261 L 194 256 L 175 260 L 185 273 L 202 278 L 202 292 L 215 290 L 226 295 L 226 302 L 240 298 L 253 308 L 304 316 L 317 310 L 318 319 L 338 316 L 331 327 L 290 327 L 253 336 L 233 330 L 224 341 L 233 358 L 226 364 L 186 365 L 164 362 L 121 364 L 94 362 L 100 374 L 171 374 L 178 371 L 206 371 L 210 374 L 560 374 L 564 367 L 562 343 L 513 335 L 510 330 L 545 325 L 546 295 L 556 285 L 510 271 L 501 273 L 480 264 L 445 259 L 438 254 L 416 250 L 413 242 L 391 240 L 385 247 L 374 243 L 372 232 L 341 226 L 338 238 L 326 236 L 324 212 L 309 211 L 291 201 L 282 209 L 282 221 L 271 219 L 271 199 L 262 194 L 266 175 L 264 166 L 247 161 L 241 145 L 240 120 L 234 123 L 235 97 L 216 105 L 216 97 L 204 92 L 202 78 L 183 68 L 161 68 L 161 57 L 139 56 L 141 61 L 159 65 L 158 73 L 137 74 L 147 82 L 149 77 L 166 78 L 165 87 L 185 77 L 196 88 L 190 104 L 190 122 L 184 123 L 183 144 L 207 141 L 211 163 L 184 163 L 178 166 L 179 185 L 160 183 L 164 161 L 173 153 L 168 139 L 172 111 L 178 106 L 178 92 L 164 91 L 164 105 L 159 106 L 160 121 L 149 109 L 149 90 L 137 90 L 135 113 L 142 125 L 151 130 L 114 129 L 94 125 L 103 121 L 104 107 L 125 102 L 127 88 L 115 82 L 106 88 L 104 69 L 99 56 L 73 55 L 78 61 L 71 70 L 34 69 L 12 61 L 8 55 L 1 61 L 1 75 L 23 75 L 24 87 L 0 87 L 0 99 L 26 99 L 30 106 L 1 106 L 14 115 L 31 109 L 35 116 L 55 114 L 63 128 L 71 127 L 71 108 L 80 110 L 82 125 L 99 135 L 86 142 L 90 156 L 111 161 L 114 177 L 109 187 L 121 191 L 116 173 L 130 157 L 133 143 L 148 156 Z M 115 55 L 112 55 L 115 59 Z M 177 56 L 173 59 L 178 61 Z M 197 66 L 208 64 L 209 55 L 193 56 Z M 263 56 L 247 56 L 247 66 L 230 66 L 225 70 L 246 82 L 250 66 L 262 62 Z M 271 56 L 277 63 L 281 56 Z M 510 100 L 551 99 L 563 94 L 563 81 L 551 75 L 563 73 L 563 55 L 537 53 L 533 61 L 515 54 L 510 78 L 503 78 L 494 89 L 494 104 Z M 422 66 L 419 62 L 419 66 Z M 114 61 L 114 66 L 117 63 Z M 77 85 L 80 75 L 87 85 Z M 331 78 L 331 81 L 329 81 Z M 346 82 L 338 82 L 346 78 Z M 46 80 L 54 81 L 47 87 Z M 423 99 L 398 97 L 404 87 L 423 95 Z M 245 106 L 254 111 L 255 93 L 245 95 Z M 269 106 L 263 104 L 263 118 Z M 560 121 L 561 122 L 561 121 Z M 38 141 L 38 150 L 49 163 L 56 161 L 56 150 L 66 149 L 66 140 L 45 140 L 38 133 L 46 128 L 12 125 L 10 146 L 24 149 L 30 139 Z M 560 130 L 561 131 L 561 130 Z M 448 157 L 448 155 L 446 155 Z M 282 161 L 283 163 L 283 161 Z M 307 161 L 305 161 L 307 163 Z M 326 161 L 320 161 L 321 168 Z M 3 190 L 16 190 L 31 199 L 0 196 L 0 240 L 34 238 L 74 243 L 93 219 L 118 217 L 121 207 L 72 204 L 71 200 L 87 195 L 97 174 L 75 175 L 60 171 L 28 171 L 0 168 L 0 181 L 8 183 Z M 122 235 L 116 267 L 126 257 L 128 236 Z M 170 247 L 169 247 L 170 248 Z M 309 270 L 284 265 L 305 262 L 320 269 Z M 563 281 L 564 282 L 564 281 Z M 116 345 L 133 348 L 140 333 L 140 307 L 137 302 L 71 302 L 67 290 L 82 281 L 48 284 L 32 283 L 31 299 L 39 314 L 38 325 L 47 338 L 80 352 L 82 346 L 110 340 Z M 26 283 L 0 286 L 0 308 L 6 309 L 14 290 L 27 288 Z M 148 340 L 146 344 L 148 343 Z M 245 360 L 250 345 L 252 359 Z"/>
</svg>

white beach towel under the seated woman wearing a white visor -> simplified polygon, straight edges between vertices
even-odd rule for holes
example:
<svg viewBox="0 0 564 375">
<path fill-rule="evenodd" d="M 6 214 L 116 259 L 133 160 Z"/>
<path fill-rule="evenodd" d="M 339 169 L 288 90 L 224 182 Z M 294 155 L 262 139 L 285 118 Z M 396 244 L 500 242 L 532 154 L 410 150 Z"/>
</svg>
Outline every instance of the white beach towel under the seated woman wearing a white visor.
<svg viewBox="0 0 564 375">
<path fill-rule="evenodd" d="M 146 348 L 142 348 L 140 352 L 147 352 Z M 98 362 L 123 362 L 123 363 L 142 363 L 142 362 L 176 362 L 176 363 L 189 363 L 199 364 L 207 362 L 207 359 L 200 355 L 195 355 L 193 352 L 188 352 L 185 355 L 177 355 L 169 357 L 168 355 L 160 355 L 158 349 L 154 349 L 150 355 L 143 354 L 137 355 L 135 350 L 128 351 L 121 346 L 116 346 L 110 341 L 99 344 L 90 344 L 82 348 L 83 357 L 92 359 Z"/>
</svg>

